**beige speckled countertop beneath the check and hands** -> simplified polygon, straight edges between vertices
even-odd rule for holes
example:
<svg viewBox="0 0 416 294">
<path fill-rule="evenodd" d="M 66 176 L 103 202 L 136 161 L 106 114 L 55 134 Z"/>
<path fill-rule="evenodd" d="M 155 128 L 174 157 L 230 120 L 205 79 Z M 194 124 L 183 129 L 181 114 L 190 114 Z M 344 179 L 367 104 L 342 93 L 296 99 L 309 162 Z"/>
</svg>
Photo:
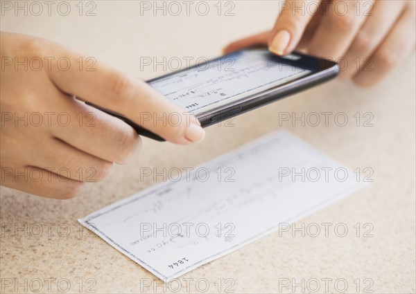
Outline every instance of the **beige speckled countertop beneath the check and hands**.
<svg viewBox="0 0 416 294">
<path fill-rule="evenodd" d="M 164 73 L 163 68 L 140 71 L 140 57 L 216 57 L 227 42 L 272 26 L 277 14 L 273 1 L 234 1 L 234 16 L 224 11 L 218 16 L 209 2 L 205 17 L 194 10 L 189 16 L 141 15 L 138 1 L 96 1 L 95 16 L 85 15 L 91 8 L 86 2 L 80 16 L 76 3 L 70 3 L 67 16 L 56 10 L 39 17 L 6 13 L 1 30 L 53 39 L 148 79 Z M 290 121 L 279 126 L 279 112 L 345 113 L 349 122 L 345 127 L 333 120 L 328 126 Z M 363 120 L 372 116 L 373 126 L 364 127 L 363 120 L 357 126 L 356 113 Z M 31 292 L 42 282 L 42 293 L 48 293 L 48 284 L 50 292 L 60 287 L 67 293 L 153 293 L 159 280 L 81 228 L 77 219 L 155 185 L 150 178 L 139 181 L 139 167 L 194 167 L 279 128 L 352 169 L 374 172 L 365 189 L 297 222 L 343 223 L 350 233 L 338 237 L 330 231 L 328 237 L 314 238 L 275 232 L 187 273 L 179 292 L 202 293 L 196 281 L 206 279 L 207 293 L 226 293 L 227 286 L 235 293 L 278 293 L 279 282 L 302 284 L 304 279 L 306 288 L 281 292 L 306 293 L 318 279 L 318 293 L 324 293 L 324 281 L 333 293 L 343 282 L 348 293 L 415 293 L 415 54 L 374 89 L 329 82 L 239 116 L 233 127 L 209 127 L 205 141 L 190 147 L 145 138 L 134 163 L 115 166 L 105 181 L 87 185 L 75 199 L 44 199 L 1 187 L 1 291 Z M 152 281 L 152 287 L 141 289 L 144 281 Z"/>
</svg>

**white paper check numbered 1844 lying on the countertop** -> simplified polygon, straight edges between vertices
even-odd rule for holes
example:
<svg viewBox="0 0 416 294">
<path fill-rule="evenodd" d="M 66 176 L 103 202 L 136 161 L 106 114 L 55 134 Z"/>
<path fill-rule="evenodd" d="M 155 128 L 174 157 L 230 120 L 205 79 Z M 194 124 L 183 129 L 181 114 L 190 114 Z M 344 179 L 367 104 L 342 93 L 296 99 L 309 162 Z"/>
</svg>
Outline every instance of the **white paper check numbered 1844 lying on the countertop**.
<svg viewBox="0 0 416 294">
<path fill-rule="evenodd" d="M 363 185 L 351 169 L 277 131 L 79 221 L 169 282 Z"/>
</svg>

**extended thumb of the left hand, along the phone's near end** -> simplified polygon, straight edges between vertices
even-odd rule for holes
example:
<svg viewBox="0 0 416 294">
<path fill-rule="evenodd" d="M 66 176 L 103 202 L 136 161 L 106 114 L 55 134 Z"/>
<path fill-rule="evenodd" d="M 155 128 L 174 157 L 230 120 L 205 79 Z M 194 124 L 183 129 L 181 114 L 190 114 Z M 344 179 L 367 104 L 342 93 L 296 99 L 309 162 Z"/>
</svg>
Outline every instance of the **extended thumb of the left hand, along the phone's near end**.
<svg viewBox="0 0 416 294">
<path fill-rule="evenodd" d="M 194 116 L 146 82 L 98 62 L 94 64 L 94 71 L 87 71 L 85 68 L 91 65 L 88 57 L 80 57 L 65 48 L 57 47 L 60 49 L 58 52 L 55 50 L 57 55 L 68 57 L 71 63 L 77 64 L 67 71 L 53 68 L 49 72 L 53 84 L 64 93 L 120 113 L 171 143 L 188 145 L 204 138 L 205 131 Z M 77 62 L 82 62 L 82 66 L 78 66 Z"/>
</svg>

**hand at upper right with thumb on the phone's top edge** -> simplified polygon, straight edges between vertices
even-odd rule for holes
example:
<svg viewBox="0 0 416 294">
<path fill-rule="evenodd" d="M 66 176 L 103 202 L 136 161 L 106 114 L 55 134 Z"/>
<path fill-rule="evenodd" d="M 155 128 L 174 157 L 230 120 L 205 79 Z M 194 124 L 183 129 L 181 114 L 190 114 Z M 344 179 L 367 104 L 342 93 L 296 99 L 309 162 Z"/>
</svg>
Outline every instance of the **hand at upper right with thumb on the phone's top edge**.
<svg viewBox="0 0 416 294">
<path fill-rule="evenodd" d="M 286 1 L 272 31 L 229 44 L 225 53 L 256 44 L 339 62 L 340 77 L 372 86 L 415 49 L 415 1 Z"/>
</svg>

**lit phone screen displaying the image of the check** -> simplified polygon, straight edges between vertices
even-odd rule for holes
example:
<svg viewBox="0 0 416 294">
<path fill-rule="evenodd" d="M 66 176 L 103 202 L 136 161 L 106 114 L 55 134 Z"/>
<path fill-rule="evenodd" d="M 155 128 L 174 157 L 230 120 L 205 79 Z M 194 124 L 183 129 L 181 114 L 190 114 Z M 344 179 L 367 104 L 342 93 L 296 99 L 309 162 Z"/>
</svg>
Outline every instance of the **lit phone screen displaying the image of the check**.
<svg viewBox="0 0 416 294">
<path fill-rule="evenodd" d="M 166 98 L 191 113 L 203 113 L 309 75 L 293 66 L 296 55 L 281 62 L 268 50 L 241 50 L 203 64 L 148 81 Z"/>
</svg>

